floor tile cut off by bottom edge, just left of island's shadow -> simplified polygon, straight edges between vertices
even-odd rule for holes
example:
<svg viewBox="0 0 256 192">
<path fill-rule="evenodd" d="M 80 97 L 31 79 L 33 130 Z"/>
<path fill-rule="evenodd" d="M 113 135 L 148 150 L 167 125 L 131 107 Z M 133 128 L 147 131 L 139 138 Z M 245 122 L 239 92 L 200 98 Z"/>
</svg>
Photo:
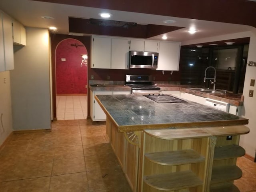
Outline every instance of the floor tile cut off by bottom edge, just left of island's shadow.
<svg viewBox="0 0 256 192">
<path fill-rule="evenodd" d="M 88 192 L 86 172 L 52 176 L 49 192 Z"/>
</svg>

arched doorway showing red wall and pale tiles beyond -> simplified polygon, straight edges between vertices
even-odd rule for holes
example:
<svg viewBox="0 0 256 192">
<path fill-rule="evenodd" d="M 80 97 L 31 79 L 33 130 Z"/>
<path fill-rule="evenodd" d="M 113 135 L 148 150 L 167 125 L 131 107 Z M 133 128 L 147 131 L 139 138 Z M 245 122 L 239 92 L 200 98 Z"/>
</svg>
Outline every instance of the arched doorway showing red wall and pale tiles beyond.
<svg viewBox="0 0 256 192">
<path fill-rule="evenodd" d="M 56 46 L 57 120 L 87 118 L 87 64 L 82 55 L 88 55 L 87 49 L 76 39 L 64 39 Z"/>
</svg>

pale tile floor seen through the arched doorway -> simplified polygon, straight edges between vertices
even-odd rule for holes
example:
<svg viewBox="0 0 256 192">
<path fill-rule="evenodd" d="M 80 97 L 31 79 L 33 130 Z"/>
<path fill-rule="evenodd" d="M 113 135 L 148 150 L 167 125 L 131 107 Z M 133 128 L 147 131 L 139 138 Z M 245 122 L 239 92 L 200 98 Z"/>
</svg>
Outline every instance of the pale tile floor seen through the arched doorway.
<svg viewBox="0 0 256 192">
<path fill-rule="evenodd" d="M 56 96 L 57 120 L 87 118 L 87 96 Z"/>
</svg>

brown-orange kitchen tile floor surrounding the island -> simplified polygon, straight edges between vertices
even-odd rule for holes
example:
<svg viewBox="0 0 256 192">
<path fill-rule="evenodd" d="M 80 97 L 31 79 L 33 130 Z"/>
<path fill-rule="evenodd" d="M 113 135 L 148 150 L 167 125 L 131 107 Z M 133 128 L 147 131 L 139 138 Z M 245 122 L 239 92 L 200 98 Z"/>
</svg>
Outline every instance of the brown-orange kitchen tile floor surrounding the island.
<svg viewBox="0 0 256 192">
<path fill-rule="evenodd" d="M 240 192 L 256 192 L 256 163 L 237 161 Z M 61 120 L 52 132 L 14 134 L 0 150 L 0 192 L 131 192 L 105 124 Z"/>
</svg>

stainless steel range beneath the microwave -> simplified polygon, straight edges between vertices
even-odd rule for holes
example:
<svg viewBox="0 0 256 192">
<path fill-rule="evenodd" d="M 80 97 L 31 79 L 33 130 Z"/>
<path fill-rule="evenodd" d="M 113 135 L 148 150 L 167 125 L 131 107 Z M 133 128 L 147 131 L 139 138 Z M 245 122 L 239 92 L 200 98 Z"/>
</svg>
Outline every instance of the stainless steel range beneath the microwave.
<svg viewBox="0 0 256 192">
<path fill-rule="evenodd" d="M 132 88 L 132 94 L 160 94 L 160 87 L 152 85 L 150 75 L 126 75 L 125 85 Z"/>
</svg>

